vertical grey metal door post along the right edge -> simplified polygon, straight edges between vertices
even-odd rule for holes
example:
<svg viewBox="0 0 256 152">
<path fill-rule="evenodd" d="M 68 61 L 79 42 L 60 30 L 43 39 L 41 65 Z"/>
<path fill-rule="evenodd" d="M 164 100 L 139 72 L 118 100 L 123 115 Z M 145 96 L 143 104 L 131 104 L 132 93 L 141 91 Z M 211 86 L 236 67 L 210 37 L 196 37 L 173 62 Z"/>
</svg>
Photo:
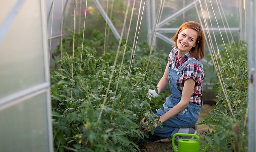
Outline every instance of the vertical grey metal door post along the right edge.
<svg viewBox="0 0 256 152">
<path fill-rule="evenodd" d="M 254 0 L 246 0 L 246 28 L 247 28 L 247 49 L 248 49 L 248 152 L 256 151 L 256 65 L 255 65 L 255 5 Z"/>
</svg>

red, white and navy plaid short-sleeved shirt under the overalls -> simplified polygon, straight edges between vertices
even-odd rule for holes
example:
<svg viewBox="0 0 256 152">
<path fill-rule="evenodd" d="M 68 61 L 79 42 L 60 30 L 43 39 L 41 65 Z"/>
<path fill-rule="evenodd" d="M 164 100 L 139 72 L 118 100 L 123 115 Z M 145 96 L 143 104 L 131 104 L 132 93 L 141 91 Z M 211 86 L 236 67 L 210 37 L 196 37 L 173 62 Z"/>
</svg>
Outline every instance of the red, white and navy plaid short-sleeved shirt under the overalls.
<svg viewBox="0 0 256 152">
<path fill-rule="evenodd" d="M 178 70 L 187 60 L 194 59 L 193 57 L 190 57 L 191 56 L 190 52 L 181 57 L 177 57 L 177 55 L 178 55 L 178 49 L 174 47 L 168 57 L 168 60 L 171 64 L 171 68 L 174 70 Z M 190 102 L 201 105 L 202 83 L 204 79 L 204 72 L 202 67 L 199 64 L 195 62 L 191 62 L 184 67 L 182 71 L 182 76 L 179 77 L 177 82 L 177 88 L 181 93 L 184 87 L 185 80 L 189 78 L 193 78 L 195 81 L 195 86 L 194 86 L 192 96 L 190 98 Z"/>
</svg>

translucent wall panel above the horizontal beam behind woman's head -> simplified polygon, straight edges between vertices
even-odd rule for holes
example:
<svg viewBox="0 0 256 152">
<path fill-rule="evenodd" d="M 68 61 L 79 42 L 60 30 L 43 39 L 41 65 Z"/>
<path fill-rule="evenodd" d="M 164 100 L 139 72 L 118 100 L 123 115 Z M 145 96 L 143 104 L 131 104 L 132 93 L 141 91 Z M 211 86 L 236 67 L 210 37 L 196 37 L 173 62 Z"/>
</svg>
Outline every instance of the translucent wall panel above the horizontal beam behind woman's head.
<svg viewBox="0 0 256 152">
<path fill-rule="evenodd" d="M 175 1 L 177 1 L 177 0 L 175 0 Z M 226 25 L 225 17 L 228 21 L 229 27 L 239 27 L 238 1 L 220 0 L 221 4 L 219 4 L 219 3 L 217 4 L 216 1 L 211 1 L 211 3 L 210 3 L 210 1 L 206 1 L 206 2 L 207 3 L 205 3 L 205 1 L 201 1 L 201 5 L 203 8 L 203 14 L 206 19 L 209 19 L 209 15 L 210 15 L 210 19 L 211 19 L 213 27 L 218 27 L 218 25 L 219 25 L 219 27 L 224 27 L 222 20 L 221 20 L 221 16 L 222 16 L 222 19 L 224 21 L 226 28 L 228 26 Z M 171 3 L 172 3 L 172 5 L 171 5 Z M 173 2 L 168 1 L 165 5 L 161 20 L 166 19 L 167 17 L 173 15 L 174 13 L 176 13 L 177 11 L 182 9 L 184 6 L 186 7 L 187 5 L 189 5 L 191 3 L 193 3 L 193 0 L 186 0 L 185 3 L 183 3 L 183 1 L 181 1 L 181 3 L 177 3 L 174 1 Z M 207 5 L 207 7 L 206 7 L 206 5 Z M 213 7 L 213 9 L 212 9 L 212 7 Z M 220 10 L 218 9 L 218 7 Z M 221 7 L 223 8 L 224 14 L 222 12 Z M 209 11 L 209 15 L 208 15 L 207 8 Z M 197 9 L 199 11 L 200 18 L 203 21 L 203 15 L 201 13 L 201 8 L 199 5 L 199 2 L 197 3 Z M 214 10 L 214 12 L 213 12 L 213 10 Z M 218 24 L 216 22 L 214 14 L 216 16 Z M 177 16 L 176 18 L 172 19 L 170 22 L 166 23 L 163 27 L 166 27 L 166 28 L 179 27 L 183 22 L 191 21 L 191 20 L 199 22 L 195 7 L 191 8 L 190 10 L 184 11 L 184 13 L 182 13 L 180 16 Z M 208 20 L 208 25 L 210 26 L 209 20 Z"/>
</svg>

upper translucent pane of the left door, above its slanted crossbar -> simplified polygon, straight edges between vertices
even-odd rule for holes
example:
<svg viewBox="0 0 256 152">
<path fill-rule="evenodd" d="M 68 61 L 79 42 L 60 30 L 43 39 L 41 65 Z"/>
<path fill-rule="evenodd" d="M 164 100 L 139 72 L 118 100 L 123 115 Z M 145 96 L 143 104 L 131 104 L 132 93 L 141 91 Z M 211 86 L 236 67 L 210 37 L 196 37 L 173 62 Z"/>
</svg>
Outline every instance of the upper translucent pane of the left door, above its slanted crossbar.
<svg viewBox="0 0 256 152">
<path fill-rule="evenodd" d="M 8 1 L 13 5 L 14 2 L 17 0 Z M 5 1 L 0 3 L 0 23 L 5 18 L 2 10 L 6 10 L 6 4 Z M 6 11 L 10 12 L 13 5 Z M 40 0 L 25 0 L 0 46 L 0 52 L 0 98 L 45 82 Z"/>
</svg>

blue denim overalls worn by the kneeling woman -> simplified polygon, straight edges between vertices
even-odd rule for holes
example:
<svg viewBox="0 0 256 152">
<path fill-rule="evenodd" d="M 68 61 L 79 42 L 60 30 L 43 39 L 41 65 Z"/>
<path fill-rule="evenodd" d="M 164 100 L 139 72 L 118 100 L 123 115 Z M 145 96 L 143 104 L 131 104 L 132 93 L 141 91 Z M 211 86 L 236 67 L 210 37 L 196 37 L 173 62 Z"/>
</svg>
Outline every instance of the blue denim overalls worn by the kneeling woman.
<svg viewBox="0 0 256 152">
<path fill-rule="evenodd" d="M 164 110 L 157 109 L 157 116 L 163 115 L 180 102 L 182 94 L 177 88 L 177 81 L 178 78 L 182 75 L 184 67 L 190 62 L 196 62 L 201 67 L 203 67 L 202 64 L 196 59 L 187 60 L 177 71 L 172 69 L 170 67 L 171 64 L 169 64 L 168 79 L 170 91 L 172 94 L 166 98 L 166 102 L 163 104 Z M 180 113 L 178 113 L 177 115 L 173 116 L 172 118 L 163 123 L 163 130 L 161 129 L 161 127 L 155 128 L 154 135 L 159 136 L 161 138 L 168 137 L 169 139 L 171 139 L 174 133 L 178 132 L 179 128 L 192 127 L 199 118 L 199 113 L 201 111 L 202 105 L 202 97 L 201 105 L 189 102 L 189 105 L 185 109 L 183 109 Z"/>
</svg>

